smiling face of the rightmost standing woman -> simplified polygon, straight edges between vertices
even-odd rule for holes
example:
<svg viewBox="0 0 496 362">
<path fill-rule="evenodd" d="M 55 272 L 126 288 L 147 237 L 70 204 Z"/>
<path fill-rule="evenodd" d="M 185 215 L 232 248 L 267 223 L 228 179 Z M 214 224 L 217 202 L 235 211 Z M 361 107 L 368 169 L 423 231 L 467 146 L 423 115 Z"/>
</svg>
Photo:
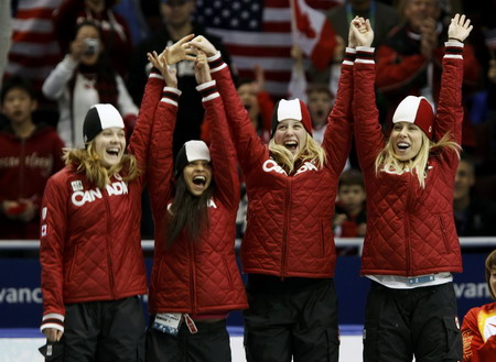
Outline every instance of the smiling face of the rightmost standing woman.
<svg viewBox="0 0 496 362">
<path fill-rule="evenodd" d="M 423 143 L 422 130 L 410 122 L 398 122 L 392 127 L 389 141 L 399 161 L 414 158 Z"/>
</svg>

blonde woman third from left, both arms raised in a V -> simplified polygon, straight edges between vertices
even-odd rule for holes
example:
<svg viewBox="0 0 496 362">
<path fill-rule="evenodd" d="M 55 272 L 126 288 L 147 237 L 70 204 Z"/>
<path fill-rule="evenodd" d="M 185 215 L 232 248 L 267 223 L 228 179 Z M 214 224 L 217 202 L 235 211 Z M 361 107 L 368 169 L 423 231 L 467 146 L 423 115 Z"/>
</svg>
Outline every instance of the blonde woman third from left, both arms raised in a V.
<svg viewBox="0 0 496 362">
<path fill-rule="evenodd" d="M 354 50 L 347 50 L 322 145 L 312 138 L 309 110 L 299 99 L 276 105 L 267 145 L 220 53 L 203 36 L 191 43 L 209 56 L 246 180 L 241 264 L 248 274 L 247 361 L 337 361 L 332 223 L 337 182 L 352 143 Z M 353 39 L 349 43 L 353 47 Z"/>
</svg>

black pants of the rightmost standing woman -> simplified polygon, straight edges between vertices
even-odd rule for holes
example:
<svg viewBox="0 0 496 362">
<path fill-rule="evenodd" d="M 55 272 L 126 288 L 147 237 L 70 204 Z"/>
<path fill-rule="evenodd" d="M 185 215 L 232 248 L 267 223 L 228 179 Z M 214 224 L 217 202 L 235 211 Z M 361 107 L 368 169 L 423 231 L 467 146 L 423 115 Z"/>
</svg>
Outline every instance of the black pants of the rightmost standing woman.
<svg viewBox="0 0 496 362">
<path fill-rule="evenodd" d="M 364 326 L 364 362 L 462 360 L 453 283 L 392 289 L 371 283 Z"/>
</svg>

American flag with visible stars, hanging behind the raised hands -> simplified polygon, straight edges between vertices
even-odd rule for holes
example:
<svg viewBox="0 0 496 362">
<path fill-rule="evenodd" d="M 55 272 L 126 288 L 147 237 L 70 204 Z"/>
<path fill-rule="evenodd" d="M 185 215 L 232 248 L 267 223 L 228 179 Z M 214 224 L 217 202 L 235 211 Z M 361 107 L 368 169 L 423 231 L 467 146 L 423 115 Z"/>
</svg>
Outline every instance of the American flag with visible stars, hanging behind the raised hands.
<svg viewBox="0 0 496 362">
<path fill-rule="evenodd" d="M 306 0 L 327 10 L 343 0 Z M 293 61 L 290 55 L 290 0 L 196 0 L 196 20 L 223 37 L 240 78 L 254 79 L 254 66 L 265 69 L 266 90 L 287 97 Z"/>
</svg>

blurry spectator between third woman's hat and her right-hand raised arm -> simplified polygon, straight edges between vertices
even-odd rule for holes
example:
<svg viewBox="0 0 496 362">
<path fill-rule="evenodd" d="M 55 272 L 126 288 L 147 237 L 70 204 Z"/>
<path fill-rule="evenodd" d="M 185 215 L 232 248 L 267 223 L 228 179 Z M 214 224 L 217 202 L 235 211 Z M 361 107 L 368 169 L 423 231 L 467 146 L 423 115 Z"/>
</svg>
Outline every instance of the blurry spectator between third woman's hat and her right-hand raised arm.
<svg viewBox="0 0 496 362">
<path fill-rule="evenodd" d="M 327 128 L 327 117 L 333 109 L 334 96 L 326 85 L 313 84 L 306 88 L 306 107 L 312 119 L 313 139 L 322 143 L 325 129 Z"/>
</svg>

